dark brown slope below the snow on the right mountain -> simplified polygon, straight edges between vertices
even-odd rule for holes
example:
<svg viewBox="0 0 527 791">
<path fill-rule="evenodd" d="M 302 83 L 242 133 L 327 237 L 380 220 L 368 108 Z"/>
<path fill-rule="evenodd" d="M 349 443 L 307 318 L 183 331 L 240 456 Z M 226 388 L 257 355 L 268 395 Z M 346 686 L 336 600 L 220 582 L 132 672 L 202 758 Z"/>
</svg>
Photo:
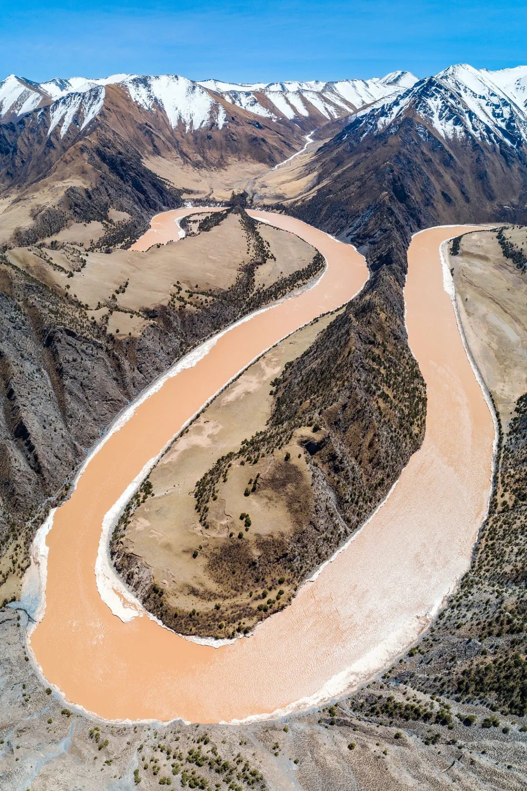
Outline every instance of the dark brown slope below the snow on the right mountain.
<svg viewBox="0 0 527 791">
<path fill-rule="evenodd" d="M 356 122 L 357 123 L 357 122 Z M 314 185 L 297 202 L 341 237 L 371 238 L 376 208 L 390 203 L 411 229 L 477 221 L 513 221 L 525 211 L 525 153 L 484 142 L 445 141 L 407 118 L 354 137 L 353 124 L 319 149 L 309 170 Z"/>
</svg>

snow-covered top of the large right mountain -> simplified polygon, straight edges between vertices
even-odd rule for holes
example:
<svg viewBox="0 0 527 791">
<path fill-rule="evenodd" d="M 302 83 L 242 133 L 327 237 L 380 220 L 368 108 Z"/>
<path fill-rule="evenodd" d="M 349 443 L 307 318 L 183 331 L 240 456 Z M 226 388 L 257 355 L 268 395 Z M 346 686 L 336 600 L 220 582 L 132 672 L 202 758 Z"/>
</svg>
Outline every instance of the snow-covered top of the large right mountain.
<svg viewBox="0 0 527 791">
<path fill-rule="evenodd" d="M 527 67 L 477 70 L 468 64 L 449 66 L 416 82 L 405 93 L 359 111 L 355 130 L 391 134 L 406 117 L 446 140 L 476 138 L 520 147 L 527 142 Z"/>
</svg>

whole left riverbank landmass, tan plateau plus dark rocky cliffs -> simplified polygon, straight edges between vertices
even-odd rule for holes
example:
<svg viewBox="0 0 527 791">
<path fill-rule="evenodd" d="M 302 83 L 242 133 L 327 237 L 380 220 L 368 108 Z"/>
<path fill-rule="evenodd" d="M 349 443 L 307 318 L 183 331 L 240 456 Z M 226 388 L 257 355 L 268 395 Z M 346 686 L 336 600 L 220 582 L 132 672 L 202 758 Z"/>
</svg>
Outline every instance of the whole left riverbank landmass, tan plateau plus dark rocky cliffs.
<svg viewBox="0 0 527 791">
<path fill-rule="evenodd" d="M 104 255 L 61 243 L 0 254 L 0 548 L 19 550 L 0 582 L 8 568 L 6 578 L 20 573 L 45 505 L 126 403 L 322 265 L 301 240 L 266 225 L 261 234 L 243 210 L 221 218 L 173 243 L 174 255 L 171 244 Z"/>
</svg>

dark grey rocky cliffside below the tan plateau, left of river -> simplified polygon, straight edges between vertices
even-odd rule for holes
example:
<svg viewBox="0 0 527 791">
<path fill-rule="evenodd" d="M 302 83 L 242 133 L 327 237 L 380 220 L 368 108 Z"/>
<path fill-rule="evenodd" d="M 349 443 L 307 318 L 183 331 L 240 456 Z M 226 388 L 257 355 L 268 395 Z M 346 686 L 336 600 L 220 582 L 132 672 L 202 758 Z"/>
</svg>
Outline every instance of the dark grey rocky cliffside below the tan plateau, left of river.
<svg viewBox="0 0 527 791">
<path fill-rule="evenodd" d="M 118 311 L 119 323 L 127 316 L 119 313 L 115 294 L 105 301 L 107 315 L 94 320 L 93 310 L 74 294 L 47 286 L 1 255 L 0 532 L 4 549 L 17 544 L 2 566 L 4 580 L 20 577 L 46 505 L 66 494 L 73 471 L 130 400 L 209 335 L 288 293 L 320 268 L 315 256 L 306 271 L 300 267 L 299 274 L 258 286 L 254 272 L 273 256 L 272 245 L 243 209 L 232 212 L 244 229 L 244 248 L 247 244 L 247 263 L 232 285 L 210 290 L 197 302 L 182 297 L 178 286 L 174 297 L 179 293 L 179 299 L 131 311 L 143 326 L 129 335 L 108 327 L 112 312 Z M 111 266 L 111 255 L 106 257 Z M 4 589 L 4 595 L 9 598 L 11 590 Z"/>
</svg>

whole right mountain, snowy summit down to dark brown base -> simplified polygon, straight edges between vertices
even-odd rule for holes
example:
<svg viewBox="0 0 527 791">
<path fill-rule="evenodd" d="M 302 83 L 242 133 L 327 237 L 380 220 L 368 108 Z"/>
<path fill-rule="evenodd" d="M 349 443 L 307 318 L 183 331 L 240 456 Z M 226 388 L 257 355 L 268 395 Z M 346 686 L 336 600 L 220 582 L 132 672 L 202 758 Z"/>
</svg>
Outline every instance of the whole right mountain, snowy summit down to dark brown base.
<svg viewBox="0 0 527 791">
<path fill-rule="evenodd" d="M 525 222 L 526 77 L 459 64 L 360 109 L 299 172 L 309 189 L 290 209 L 330 233 L 345 223 L 354 244 L 393 227 Z"/>
</svg>

